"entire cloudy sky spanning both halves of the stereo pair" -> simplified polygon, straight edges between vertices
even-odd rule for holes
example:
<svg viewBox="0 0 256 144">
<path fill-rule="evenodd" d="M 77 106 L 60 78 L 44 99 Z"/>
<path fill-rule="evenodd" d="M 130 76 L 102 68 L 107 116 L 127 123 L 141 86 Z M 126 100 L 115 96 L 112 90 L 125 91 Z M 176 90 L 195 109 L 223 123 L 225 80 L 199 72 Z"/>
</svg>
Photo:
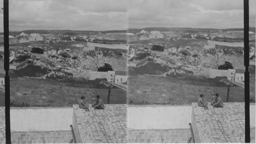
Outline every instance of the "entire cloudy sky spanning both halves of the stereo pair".
<svg viewBox="0 0 256 144">
<path fill-rule="evenodd" d="M 249 0 L 250 26 L 255 26 L 255 1 Z M 243 26 L 242 0 L 9 0 L 10 31 Z"/>
</svg>

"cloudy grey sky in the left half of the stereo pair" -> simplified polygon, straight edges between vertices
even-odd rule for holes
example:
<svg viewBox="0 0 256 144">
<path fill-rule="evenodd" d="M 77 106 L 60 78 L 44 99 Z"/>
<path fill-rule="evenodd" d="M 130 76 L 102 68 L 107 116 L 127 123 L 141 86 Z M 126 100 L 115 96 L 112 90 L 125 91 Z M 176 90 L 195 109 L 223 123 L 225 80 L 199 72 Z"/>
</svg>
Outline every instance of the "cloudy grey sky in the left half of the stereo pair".
<svg viewBox="0 0 256 144">
<path fill-rule="evenodd" d="M 2 2 L 2 3 L 1 3 Z M 3 0 L 0 0 L 3 7 Z M 3 12 L 0 13 L 3 20 Z M 0 26 L 3 27 L 0 21 Z M 127 1 L 9 0 L 9 30 L 125 30 Z"/>
</svg>

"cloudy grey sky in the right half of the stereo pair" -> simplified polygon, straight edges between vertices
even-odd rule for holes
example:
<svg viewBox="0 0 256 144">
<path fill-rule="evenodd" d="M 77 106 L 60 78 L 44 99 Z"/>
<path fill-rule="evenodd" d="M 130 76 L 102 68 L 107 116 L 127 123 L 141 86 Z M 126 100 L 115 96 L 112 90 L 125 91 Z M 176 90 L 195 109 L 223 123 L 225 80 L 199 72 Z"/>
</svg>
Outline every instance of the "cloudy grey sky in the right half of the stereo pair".
<svg viewBox="0 0 256 144">
<path fill-rule="evenodd" d="M 255 0 L 250 26 L 255 26 Z M 242 0 L 129 0 L 130 27 L 243 28 Z"/>
</svg>

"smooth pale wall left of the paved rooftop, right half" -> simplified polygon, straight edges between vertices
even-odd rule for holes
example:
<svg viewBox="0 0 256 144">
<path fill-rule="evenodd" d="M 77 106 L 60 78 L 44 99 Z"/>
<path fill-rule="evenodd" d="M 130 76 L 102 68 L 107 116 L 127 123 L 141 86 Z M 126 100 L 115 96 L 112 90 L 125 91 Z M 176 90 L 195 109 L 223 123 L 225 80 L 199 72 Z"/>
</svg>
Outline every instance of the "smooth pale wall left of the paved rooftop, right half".
<svg viewBox="0 0 256 144">
<path fill-rule="evenodd" d="M 129 105 L 129 129 L 189 129 L 190 105 Z"/>
</svg>

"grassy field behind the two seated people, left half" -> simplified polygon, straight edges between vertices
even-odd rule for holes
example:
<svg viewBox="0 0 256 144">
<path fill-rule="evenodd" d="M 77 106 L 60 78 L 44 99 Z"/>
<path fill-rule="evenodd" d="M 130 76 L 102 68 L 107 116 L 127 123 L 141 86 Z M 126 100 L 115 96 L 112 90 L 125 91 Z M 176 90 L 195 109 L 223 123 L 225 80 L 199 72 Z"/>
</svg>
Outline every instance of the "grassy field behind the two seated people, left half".
<svg viewBox="0 0 256 144">
<path fill-rule="evenodd" d="M 94 103 L 99 95 L 106 104 L 108 89 L 87 88 L 87 84 L 51 79 L 17 77 L 10 81 L 11 106 L 72 106 L 78 104 L 81 96 L 87 103 Z M 111 89 L 110 104 L 126 103 L 126 91 Z"/>
</svg>

